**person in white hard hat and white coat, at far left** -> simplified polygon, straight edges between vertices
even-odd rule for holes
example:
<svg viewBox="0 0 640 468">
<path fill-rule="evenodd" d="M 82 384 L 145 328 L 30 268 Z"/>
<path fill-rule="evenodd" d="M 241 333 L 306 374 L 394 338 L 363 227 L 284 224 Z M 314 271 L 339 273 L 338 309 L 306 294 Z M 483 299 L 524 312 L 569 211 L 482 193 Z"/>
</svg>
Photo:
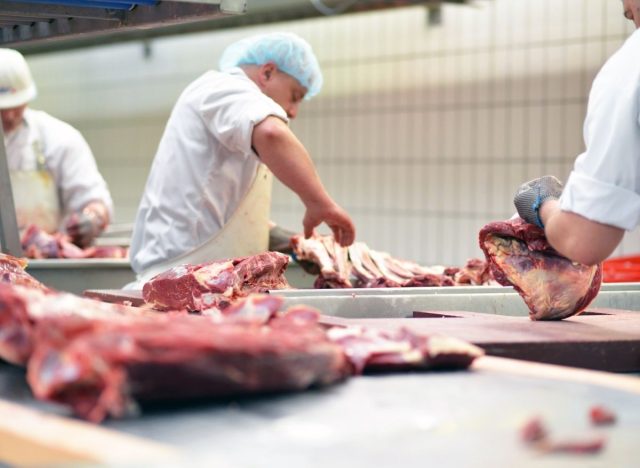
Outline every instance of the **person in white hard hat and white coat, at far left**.
<svg viewBox="0 0 640 468">
<path fill-rule="evenodd" d="M 18 227 L 66 232 L 86 247 L 112 217 L 111 195 L 80 132 L 28 108 L 36 95 L 22 54 L 0 49 L 0 114 Z"/>
</svg>

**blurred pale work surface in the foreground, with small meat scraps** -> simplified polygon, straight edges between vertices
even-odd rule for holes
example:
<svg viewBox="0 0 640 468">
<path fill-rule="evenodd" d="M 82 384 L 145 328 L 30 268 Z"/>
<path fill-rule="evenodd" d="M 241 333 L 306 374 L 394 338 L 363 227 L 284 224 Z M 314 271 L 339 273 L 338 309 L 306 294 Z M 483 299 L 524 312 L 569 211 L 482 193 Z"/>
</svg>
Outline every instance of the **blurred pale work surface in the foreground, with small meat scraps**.
<svg viewBox="0 0 640 468">
<path fill-rule="evenodd" d="M 32 399 L 21 369 L 0 365 L 0 389 L 5 399 L 65 414 Z M 618 422 L 590 426 L 596 404 L 610 407 Z M 533 416 L 558 440 L 603 435 L 605 449 L 540 454 L 519 438 Z M 640 456 L 640 393 L 490 370 L 409 373 L 298 394 L 147 407 L 103 426 L 177 447 L 184 466 L 633 467 Z"/>
</svg>

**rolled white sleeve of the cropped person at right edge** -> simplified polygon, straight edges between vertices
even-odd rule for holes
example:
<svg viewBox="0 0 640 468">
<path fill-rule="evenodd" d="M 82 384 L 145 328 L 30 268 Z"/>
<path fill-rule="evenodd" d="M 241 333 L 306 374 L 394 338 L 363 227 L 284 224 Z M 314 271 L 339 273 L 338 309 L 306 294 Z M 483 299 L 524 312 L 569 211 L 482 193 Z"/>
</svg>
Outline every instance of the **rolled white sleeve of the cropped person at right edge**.
<svg viewBox="0 0 640 468">
<path fill-rule="evenodd" d="M 584 126 L 587 149 L 575 162 L 560 207 L 632 230 L 640 223 L 640 85 L 628 70 L 610 79 L 615 70 L 594 82 Z"/>
</svg>

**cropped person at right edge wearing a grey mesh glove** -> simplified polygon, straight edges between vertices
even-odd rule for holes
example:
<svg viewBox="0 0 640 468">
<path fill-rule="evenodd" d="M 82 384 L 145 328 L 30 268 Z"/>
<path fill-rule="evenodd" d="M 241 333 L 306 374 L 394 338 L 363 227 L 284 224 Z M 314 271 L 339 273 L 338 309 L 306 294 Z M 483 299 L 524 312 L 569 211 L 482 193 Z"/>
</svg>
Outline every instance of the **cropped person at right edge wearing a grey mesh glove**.
<svg viewBox="0 0 640 468">
<path fill-rule="evenodd" d="M 622 3 L 636 31 L 593 82 L 585 152 L 564 187 L 545 176 L 514 198 L 518 214 L 544 227 L 559 253 L 586 265 L 606 259 L 640 223 L 640 0 Z"/>
</svg>

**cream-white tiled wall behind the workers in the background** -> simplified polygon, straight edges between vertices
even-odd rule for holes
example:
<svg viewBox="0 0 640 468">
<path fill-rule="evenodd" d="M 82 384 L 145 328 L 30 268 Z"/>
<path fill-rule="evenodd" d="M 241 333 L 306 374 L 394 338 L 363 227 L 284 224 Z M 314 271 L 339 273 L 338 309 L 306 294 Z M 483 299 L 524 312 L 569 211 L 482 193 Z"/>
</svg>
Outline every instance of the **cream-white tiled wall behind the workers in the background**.
<svg viewBox="0 0 640 468">
<path fill-rule="evenodd" d="M 330 193 L 377 250 L 457 265 L 477 232 L 513 213 L 517 186 L 566 178 L 599 67 L 632 31 L 611 0 L 483 0 L 321 18 L 29 57 L 34 107 L 78 127 L 131 222 L 171 106 L 230 42 L 265 30 L 307 38 L 325 87 L 292 128 Z M 167 194 L 171 196 L 171 194 Z M 275 187 L 272 218 L 302 206 Z M 617 254 L 640 251 L 628 234 Z"/>
</svg>

